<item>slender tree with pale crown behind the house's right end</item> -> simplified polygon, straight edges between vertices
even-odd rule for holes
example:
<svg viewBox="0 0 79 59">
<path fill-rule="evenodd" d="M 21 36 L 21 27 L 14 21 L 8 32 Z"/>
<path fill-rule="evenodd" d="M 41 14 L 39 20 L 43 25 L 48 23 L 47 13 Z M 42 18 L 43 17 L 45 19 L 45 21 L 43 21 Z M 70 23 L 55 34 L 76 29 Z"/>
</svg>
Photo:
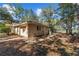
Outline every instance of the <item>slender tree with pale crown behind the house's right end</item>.
<svg viewBox="0 0 79 59">
<path fill-rule="evenodd" d="M 42 16 L 44 17 L 44 19 L 46 19 L 46 22 L 48 23 L 48 26 L 49 26 L 49 34 L 51 34 L 51 28 L 52 28 L 51 19 L 52 19 L 53 13 L 54 12 L 51 6 L 44 8 L 42 10 Z"/>
</svg>

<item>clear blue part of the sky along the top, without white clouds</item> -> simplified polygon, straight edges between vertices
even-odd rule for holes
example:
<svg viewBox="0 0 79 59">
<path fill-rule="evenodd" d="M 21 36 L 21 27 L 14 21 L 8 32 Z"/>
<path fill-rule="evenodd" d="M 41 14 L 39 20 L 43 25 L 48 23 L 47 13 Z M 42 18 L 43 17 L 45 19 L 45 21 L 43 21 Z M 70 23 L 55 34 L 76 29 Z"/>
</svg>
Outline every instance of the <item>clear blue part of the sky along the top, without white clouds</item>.
<svg viewBox="0 0 79 59">
<path fill-rule="evenodd" d="M 2 6 L 5 3 L 0 3 L 0 6 Z M 11 3 L 12 4 L 12 3 Z M 37 9 L 37 8 L 45 8 L 49 5 L 52 5 L 53 9 L 58 8 L 58 3 L 17 3 L 20 4 L 25 9 Z"/>
</svg>

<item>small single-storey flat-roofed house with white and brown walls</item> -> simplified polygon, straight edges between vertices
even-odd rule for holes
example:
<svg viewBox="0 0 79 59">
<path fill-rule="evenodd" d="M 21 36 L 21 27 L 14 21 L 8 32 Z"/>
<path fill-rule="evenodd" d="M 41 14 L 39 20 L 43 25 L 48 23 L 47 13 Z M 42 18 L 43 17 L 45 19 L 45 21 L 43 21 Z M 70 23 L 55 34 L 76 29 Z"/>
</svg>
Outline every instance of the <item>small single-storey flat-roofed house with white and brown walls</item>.
<svg viewBox="0 0 79 59">
<path fill-rule="evenodd" d="M 48 26 L 35 21 L 14 24 L 11 29 L 12 33 L 27 38 L 44 36 L 48 34 Z"/>
</svg>

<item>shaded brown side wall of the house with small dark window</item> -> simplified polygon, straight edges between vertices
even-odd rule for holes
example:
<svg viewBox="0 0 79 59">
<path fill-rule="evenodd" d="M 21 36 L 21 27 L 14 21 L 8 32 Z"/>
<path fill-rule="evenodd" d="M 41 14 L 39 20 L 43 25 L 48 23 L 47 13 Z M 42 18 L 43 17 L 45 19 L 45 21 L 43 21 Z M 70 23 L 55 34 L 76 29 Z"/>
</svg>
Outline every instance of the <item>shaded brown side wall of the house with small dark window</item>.
<svg viewBox="0 0 79 59">
<path fill-rule="evenodd" d="M 40 30 L 37 30 L 40 27 Z M 48 27 L 39 24 L 28 24 L 28 37 L 44 36 L 48 34 Z"/>
</svg>

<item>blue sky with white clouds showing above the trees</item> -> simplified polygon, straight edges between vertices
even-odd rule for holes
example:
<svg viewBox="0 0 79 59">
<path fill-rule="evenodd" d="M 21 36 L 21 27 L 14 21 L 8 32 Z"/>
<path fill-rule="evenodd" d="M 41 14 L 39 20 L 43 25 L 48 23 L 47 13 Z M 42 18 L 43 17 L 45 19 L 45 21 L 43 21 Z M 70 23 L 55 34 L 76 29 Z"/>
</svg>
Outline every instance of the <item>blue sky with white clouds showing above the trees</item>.
<svg viewBox="0 0 79 59">
<path fill-rule="evenodd" d="M 11 3 L 11 4 L 16 5 L 15 3 Z M 37 14 L 37 16 L 40 15 L 42 8 L 46 8 L 49 5 L 52 6 L 53 10 L 56 10 L 57 8 L 59 8 L 58 3 L 17 3 L 17 4 L 20 5 L 21 7 L 23 7 L 24 9 L 32 9 Z M 8 4 L 5 4 L 5 3 L 0 3 L 0 6 L 7 7 L 7 9 L 10 8 L 8 6 Z M 55 15 L 57 15 L 57 14 L 55 14 Z M 58 16 L 58 18 L 60 18 L 60 17 Z"/>
</svg>

